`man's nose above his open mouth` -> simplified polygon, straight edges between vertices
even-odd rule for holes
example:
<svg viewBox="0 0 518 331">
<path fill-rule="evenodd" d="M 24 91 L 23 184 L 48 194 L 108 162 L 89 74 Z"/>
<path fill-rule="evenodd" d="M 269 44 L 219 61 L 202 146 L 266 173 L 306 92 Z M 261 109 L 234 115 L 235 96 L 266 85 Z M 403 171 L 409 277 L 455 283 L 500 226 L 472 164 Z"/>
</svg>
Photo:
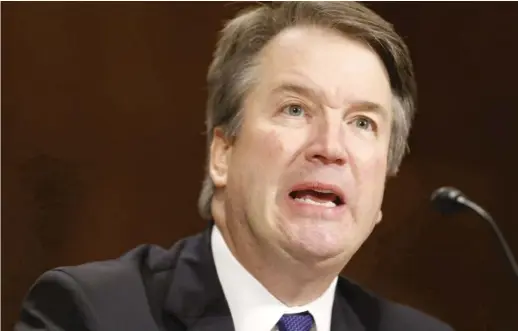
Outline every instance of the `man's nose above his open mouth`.
<svg viewBox="0 0 518 331">
<path fill-rule="evenodd" d="M 326 121 L 315 127 L 311 145 L 307 149 L 308 161 L 322 164 L 344 165 L 347 160 L 341 121 Z"/>
</svg>

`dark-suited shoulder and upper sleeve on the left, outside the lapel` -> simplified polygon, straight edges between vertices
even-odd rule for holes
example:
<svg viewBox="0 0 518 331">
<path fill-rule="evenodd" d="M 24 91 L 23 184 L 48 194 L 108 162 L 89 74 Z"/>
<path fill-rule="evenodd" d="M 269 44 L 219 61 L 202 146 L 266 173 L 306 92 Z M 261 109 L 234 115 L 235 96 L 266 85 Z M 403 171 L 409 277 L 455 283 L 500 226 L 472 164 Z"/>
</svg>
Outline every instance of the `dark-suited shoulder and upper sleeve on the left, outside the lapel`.
<svg viewBox="0 0 518 331">
<path fill-rule="evenodd" d="M 169 250 L 141 245 L 117 259 L 43 273 L 22 303 L 15 330 L 154 329 L 153 307 L 166 292 L 184 241 Z"/>
</svg>

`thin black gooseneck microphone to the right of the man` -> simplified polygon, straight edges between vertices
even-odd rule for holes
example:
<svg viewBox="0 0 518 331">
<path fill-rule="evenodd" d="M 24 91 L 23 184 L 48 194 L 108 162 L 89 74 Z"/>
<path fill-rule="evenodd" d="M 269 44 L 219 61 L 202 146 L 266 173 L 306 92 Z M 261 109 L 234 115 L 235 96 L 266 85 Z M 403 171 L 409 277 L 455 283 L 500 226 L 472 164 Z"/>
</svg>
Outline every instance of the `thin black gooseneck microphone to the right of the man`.
<svg viewBox="0 0 518 331">
<path fill-rule="evenodd" d="M 432 205 L 443 214 L 453 214 L 459 212 L 465 208 L 469 208 L 477 213 L 480 217 L 485 219 L 491 228 L 495 232 L 502 248 L 504 249 L 505 255 L 511 264 L 511 268 L 516 277 L 518 277 L 518 264 L 516 263 L 516 259 L 514 258 L 513 252 L 507 241 L 502 234 L 502 231 L 498 228 L 498 225 L 495 223 L 493 217 L 484 210 L 484 208 L 480 207 L 475 202 L 471 201 L 464 193 L 460 190 L 450 187 L 444 186 L 436 189 L 431 196 Z"/>
</svg>

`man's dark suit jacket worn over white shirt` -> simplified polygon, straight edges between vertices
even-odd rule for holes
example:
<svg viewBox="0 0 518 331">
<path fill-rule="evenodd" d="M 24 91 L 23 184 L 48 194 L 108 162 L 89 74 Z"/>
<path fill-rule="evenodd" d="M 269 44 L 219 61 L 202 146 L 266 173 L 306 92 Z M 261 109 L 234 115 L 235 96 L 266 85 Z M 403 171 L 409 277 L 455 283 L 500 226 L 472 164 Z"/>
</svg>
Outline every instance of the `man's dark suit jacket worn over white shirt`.
<svg viewBox="0 0 518 331">
<path fill-rule="evenodd" d="M 15 330 L 234 330 L 210 233 L 211 227 L 169 250 L 144 245 L 116 260 L 48 271 L 30 289 Z M 452 329 L 340 278 L 331 330 Z"/>
</svg>

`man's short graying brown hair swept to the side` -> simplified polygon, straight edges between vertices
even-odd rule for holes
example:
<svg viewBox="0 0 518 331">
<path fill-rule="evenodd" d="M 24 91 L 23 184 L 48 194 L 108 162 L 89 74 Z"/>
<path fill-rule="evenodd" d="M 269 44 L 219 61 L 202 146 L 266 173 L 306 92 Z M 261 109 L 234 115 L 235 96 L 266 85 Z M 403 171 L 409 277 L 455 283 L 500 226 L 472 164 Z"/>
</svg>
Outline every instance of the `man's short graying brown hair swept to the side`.
<svg viewBox="0 0 518 331">
<path fill-rule="evenodd" d="M 253 82 L 251 68 L 258 53 L 282 30 L 297 25 L 331 28 L 369 45 L 382 59 L 394 95 L 388 176 L 398 172 L 407 151 L 415 113 L 416 83 L 409 50 L 403 39 L 366 6 L 351 1 L 274 2 L 239 13 L 220 33 L 207 75 L 207 169 L 198 200 L 204 219 L 212 219 L 214 183 L 208 172 L 213 131 L 219 127 L 233 139 L 239 132 L 241 105 Z"/>
</svg>

